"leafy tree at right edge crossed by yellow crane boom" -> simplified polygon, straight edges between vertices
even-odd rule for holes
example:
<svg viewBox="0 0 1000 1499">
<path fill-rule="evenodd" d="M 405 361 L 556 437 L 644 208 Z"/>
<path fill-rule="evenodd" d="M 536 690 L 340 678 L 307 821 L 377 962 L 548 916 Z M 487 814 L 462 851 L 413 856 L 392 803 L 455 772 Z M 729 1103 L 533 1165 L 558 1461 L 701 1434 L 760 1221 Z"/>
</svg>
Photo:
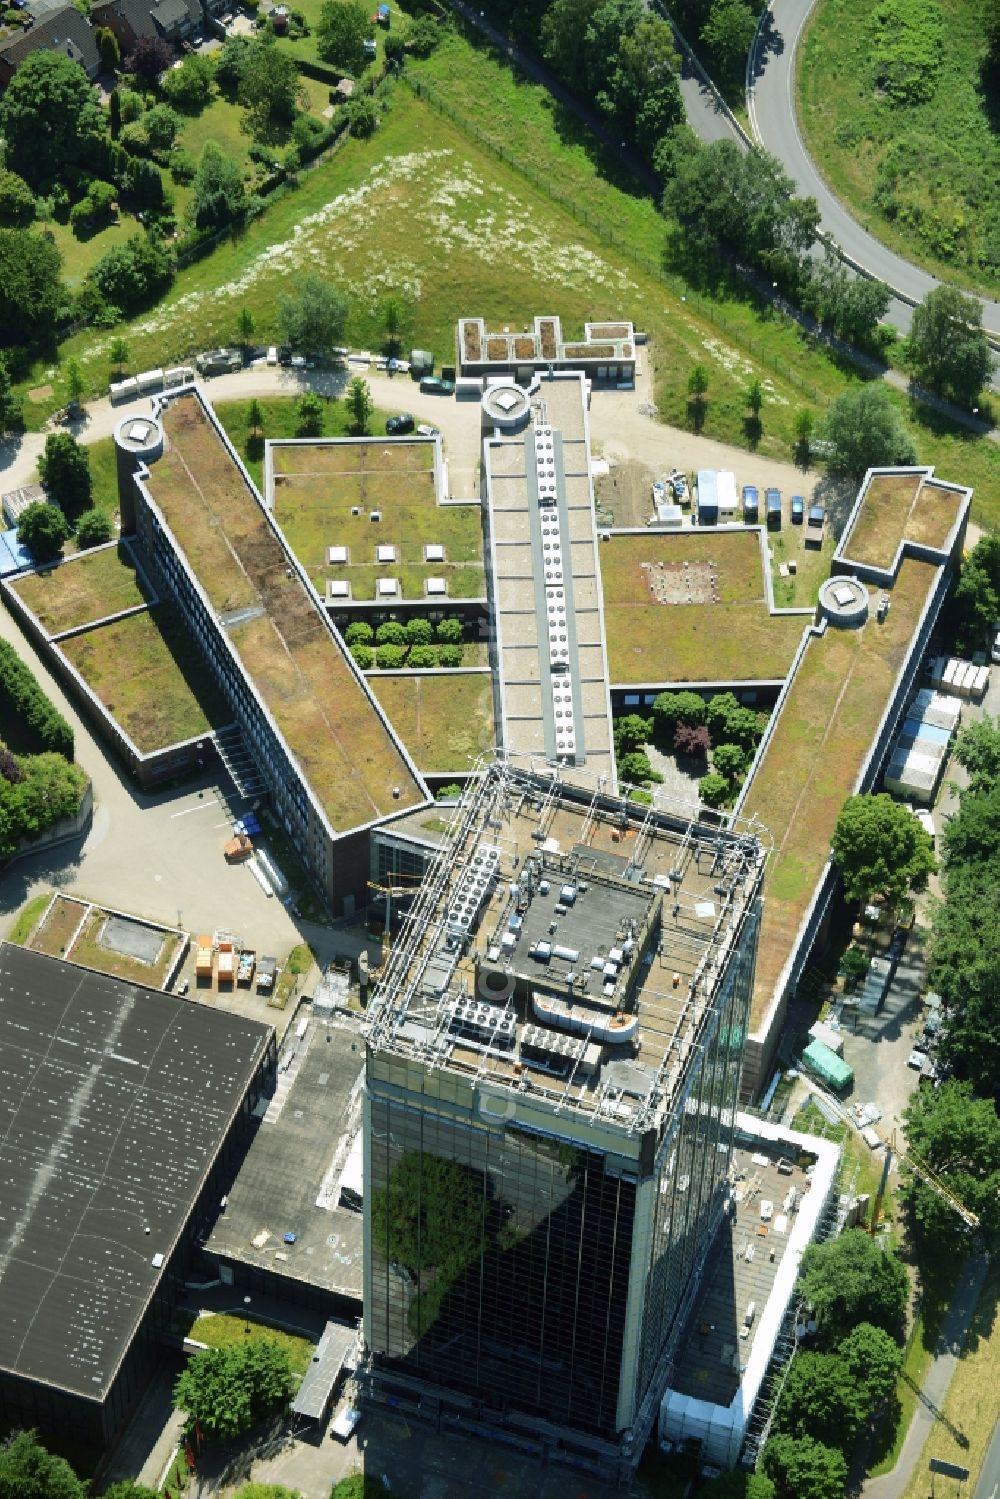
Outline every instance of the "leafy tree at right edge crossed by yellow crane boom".
<svg viewBox="0 0 1000 1499">
<path fill-rule="evenodd" d="M 996 1076 L 994 1076 L 996 1084 Z M 969 1082 L 918 1088 L 903 1112 L 907 1144 L 979 1216 L 990 1252 L 1000 1247 L 1000 1118 L 993 1097 L 978 1099 Z M 942 1198 L 912 1175 L 903 1186 L 918 1231 L 939 1249 L 963 1255 L 969 1232 Z"/>
</svg>

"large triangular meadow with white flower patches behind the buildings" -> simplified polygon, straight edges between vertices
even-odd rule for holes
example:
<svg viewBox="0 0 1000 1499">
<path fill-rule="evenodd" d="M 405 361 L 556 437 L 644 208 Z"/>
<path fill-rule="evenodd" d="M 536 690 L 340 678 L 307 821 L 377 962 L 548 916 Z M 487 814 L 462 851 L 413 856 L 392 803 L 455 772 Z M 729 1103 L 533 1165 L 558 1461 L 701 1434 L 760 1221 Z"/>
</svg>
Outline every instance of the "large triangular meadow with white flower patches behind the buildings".
<svg viewBox="0 0 1000 1499">
<path fill-rule="evenodd" d="M 477 57 L 469 48 L 469 66 Z M 499 72 L 489 58 L 477 66 L 484 69 L 484 87 L 489 69 Z M 543 183 L 558 181 L 562 168 L 555 133 L 552 139 L 549 159 L 535 162 Z M 604 190 L 597 175 L 592 183 L 595 192 Z M 622 216 L 633 211 L 628 195 L 618 198 Z M 649 228 L 637 246 L 643 262 L 649 243 L 663 234 L 655 208 L 645 211 Z M 607 213 L 612 217 L 610 207 Z M 627 316 L 655 339 L 664 418 L 687 420 L 687 372 L 705 361 L 705 430 L 741 442 L 745 385 L 760 373 L 766 384 L 760 451 L 787 457 L 793 415 L 807 399 L 792 375 L 825 399 L 843 388 L 840 372 L 784 319 L 760 318 L 736 301 L 705 304 L 705 310 L 702 303 L 694 307 L 694 298 L 681 303 L 672 285 L 628 262 L 618 238 L 619 244 L 604 244 L 568 208 L 552 202 L 544 186 L 535 187 L 397 87 L 372 139 L 348 139 L 241 235 L 183 270 L 163 303 L 123 324 L 120 333 L 135 369 L 180 363 L 201 348 L 232 342 L 244 306 L 258 319 L 258 337 L 276 337 L 277 297 L 304 267 L 349 289 L 351 342 L 381 345 L 378 307 L 391 291 L 412 307 L 406 342 L 432 348 L 439 360 L 453 357 L 459 315 L 481 313 L 504 324 L 552 309 L 570 336 L 586 319 Z M 531 285 L 523 276 L 526 262 Z M 723 315 L 745 346 L 753 342 L 759 364 L 730 342 L 718 324 Z M 79 358 L 88 382 L 103 385 L 112 336 L 87 330 L 67 340 L 63 355 Z M 42 373 L 33 372 L 31 382 Z M 28 423 L 39 409 L 28 403 Z"/>
</svg>

